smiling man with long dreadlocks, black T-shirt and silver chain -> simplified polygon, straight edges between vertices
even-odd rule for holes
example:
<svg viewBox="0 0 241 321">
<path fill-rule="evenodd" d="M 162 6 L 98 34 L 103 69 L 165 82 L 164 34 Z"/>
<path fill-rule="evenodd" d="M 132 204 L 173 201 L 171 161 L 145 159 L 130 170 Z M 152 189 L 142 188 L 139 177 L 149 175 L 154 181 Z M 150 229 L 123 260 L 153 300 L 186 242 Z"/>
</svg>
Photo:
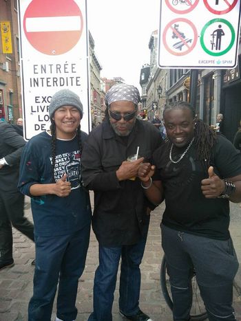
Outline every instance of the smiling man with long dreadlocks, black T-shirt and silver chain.
<svg viewBox="0 0 241 321">
<path fill-rule="evenodd" d="M 229 201 L 241 201 L 241 154 L 196 120 L 187 102 L 167 105 L 163 117 L 168 141 L 138 175 L 149 200 L 166 203 L 161 231 L 173 318 L 190 320 L 194 267 L 209 320 L 233 321 L 238 260 L 229 234 Z"/>
</svg>

